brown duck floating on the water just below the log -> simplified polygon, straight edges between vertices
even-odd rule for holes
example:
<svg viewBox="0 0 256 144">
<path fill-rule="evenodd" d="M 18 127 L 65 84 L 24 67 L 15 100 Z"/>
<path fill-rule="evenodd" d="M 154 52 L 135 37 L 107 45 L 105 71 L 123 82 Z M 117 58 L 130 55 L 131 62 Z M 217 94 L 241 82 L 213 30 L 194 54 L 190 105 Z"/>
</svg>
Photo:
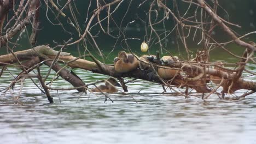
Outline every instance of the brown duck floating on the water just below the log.
<svg viewBox="0 0 256 144">
<path fill-rule="evenodd" d="M 108 82 L 107 82 L 108 81 Z M 92 92 L 118 92 L 118 89 L 114 86 L 121 87 L 121 85 L 113 77 L 109 77 L 105 82 L 105 85 L 100 85 L 95 88 L 92 88 Z M 113 85 L 110 85 L 110 83 Z M 100 91 L 101 90 L 101 91 Z"/>
</svg>

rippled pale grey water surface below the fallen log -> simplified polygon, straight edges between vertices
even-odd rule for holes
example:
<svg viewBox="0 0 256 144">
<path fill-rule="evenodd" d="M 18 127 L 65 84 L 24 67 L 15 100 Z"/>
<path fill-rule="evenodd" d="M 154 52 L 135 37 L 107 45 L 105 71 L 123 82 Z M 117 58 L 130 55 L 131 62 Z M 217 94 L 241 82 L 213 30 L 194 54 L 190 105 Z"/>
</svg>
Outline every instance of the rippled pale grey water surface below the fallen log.
<svg viewBox="0 0 256 144">
<path fill-rule="evenodd" d="M 9 70 L 14 73 L 16 69 Z M 107 77 L 84 70 L 75 73 L 87 83 Z M 8 77 L 5 72 L 0 89 L 8 86 Z M 128 85 L 129 95 L 109 94 L 114 103 L 109 100 L 104 103 L 101 94 L 76 91 L 59 92 L 59 100 L 57 92 L 52 91 L 55 103 L 48 104 L 46 97 L 26 80 L 20 98 L 24 105 L 18 105 L 13 104 L 13 96 L 18 95 L 19 86 L 15 86 L 14 95 L 7 93 L 4 99 L 0 92 L 1 143 L 255 143 L 256 140 L 256 95 L 240 100 L 220 100 L 217 95 L 206 101 L 197 97 L 184 99 L 170 93 L 160 94 L 160 86 L 137 80 Z M 70 85 L 57 80 L 54 86 Z"/>
</svg>

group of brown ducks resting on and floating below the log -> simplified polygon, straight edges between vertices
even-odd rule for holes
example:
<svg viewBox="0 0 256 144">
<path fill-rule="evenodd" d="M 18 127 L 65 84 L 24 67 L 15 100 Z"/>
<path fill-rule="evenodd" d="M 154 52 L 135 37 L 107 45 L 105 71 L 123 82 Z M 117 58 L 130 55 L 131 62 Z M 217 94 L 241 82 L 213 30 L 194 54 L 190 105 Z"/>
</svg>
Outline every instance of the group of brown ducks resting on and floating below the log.
<svg viewBox="0 0 256 144">
<path fill-rule="evenodd" d="M 132 53 L 126 53 L 121 51 L 118 53 L 118 57 L 114 59 L 114 69 L 118 73 L 127 73 L 129 71 L 140 68 L 142 70 L 151 70 L 153 68 L 150 67 L 149 62 L 158 61 L 155 55 L 143 55 L 140 58 L 137 58 L 136 55 Z M 178 57 L 164 56 L 160 59 L 162 64 L 170 64 L 173 62 L 178 62 Z M 179 73 L 177 69 L 170 69 L 170 67 L 162 66 L 161 68 L 154 67 L 155 71 L 157 71 L 158 75 L 162 79 L 172 79 L 175 75 Z M 110 77 L 107 79 L 105 85 L 100 85 L 96 88 L 91 89 L 92 92 L 117 92 L 118 89 L 115 86 L 119 86 L 120 84 L 113 78 Z"/>
</svg>

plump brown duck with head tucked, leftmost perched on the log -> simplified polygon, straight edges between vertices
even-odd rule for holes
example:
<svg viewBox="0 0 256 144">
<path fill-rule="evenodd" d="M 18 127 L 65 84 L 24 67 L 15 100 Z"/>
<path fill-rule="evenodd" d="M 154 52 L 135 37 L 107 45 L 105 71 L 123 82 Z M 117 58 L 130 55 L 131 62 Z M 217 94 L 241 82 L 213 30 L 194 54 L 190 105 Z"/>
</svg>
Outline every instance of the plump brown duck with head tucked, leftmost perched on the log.
<svg viewBox="0 0 256 144">
<path fill-rule="evenodd" d="M 138 68 L 138 60 L 131 53 L 120 51 L 114 59 L 114 68 L 118 73 L 127 73 Z"/>
</svg>

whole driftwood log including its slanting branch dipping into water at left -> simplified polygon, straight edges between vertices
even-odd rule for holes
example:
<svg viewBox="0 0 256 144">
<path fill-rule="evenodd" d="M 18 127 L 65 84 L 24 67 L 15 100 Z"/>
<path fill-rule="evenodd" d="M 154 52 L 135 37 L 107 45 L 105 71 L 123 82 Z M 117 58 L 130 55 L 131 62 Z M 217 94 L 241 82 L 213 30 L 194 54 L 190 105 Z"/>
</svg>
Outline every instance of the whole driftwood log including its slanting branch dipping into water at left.
<svg viewBox="0 0 256 144">
<path fill-rule="evenodd" d="M 115 71 L 114 69 L 114 65 L 104 64 L 97 60 L 95 60 L 96 62 L 91 62 L 85 59 L 73 57 L 70 53 L 58 52 L 45 45 L 37 46 L 29 50 L 10 53 L 8 55 L 2 55 L 0 56 L 0 65 L 19 63 L 25 60 L 30 61 L 27 61 L 26 63 L 20 65 L 21 69 L 24 70 L 23 74 L 28 74 L 29 71 L 31 71 L 32 69 L 37 68 L 34 65 L 40 65 L 44 63 L 56 72 L 58 71 L 57 73 L 61 77 L 63 77 L 63 79 L 71 83 L 79 92 L 86 91 L 87 87 L 85 83 L 80 80 L 79 77 L 73 75 L 65 68 L 61 68 L 60 65 L 57 64 L 57 62 L 65 63 L 71 68 L 85 69 L 94 73 L 117 77 L 118 79 L 120 79 L 121 77 L 133 77 L 136 79 L 153 81 L 167 87 L 190 87 L 194 88 L 197 93 L 211 92 L 207 86 L 207 82 L 209 82 L 210 79 L 209 77 L 204 77 L 205 75 L 222 77 L 225 83 L 230 83 L 230 85 L 221 85 L 224 89 L 223 93 L 234 93 L 238 89 L 248 89 L 252 92 L 256 91 L 256 83 L 243 80 L 240 77 L 238 77 L 237 79 L 237 73 L 239 71 L 236 73 L 230 73 L 227 70 L 213 69 L 210 67 L 206 68 L 204 65 L 207 64 L 202 62 L 176 62 L 170 64 L 167 63 L 165 67 L 168 66 L 170 69 L 177 68 L 185 75 L 178 75 L 172 80 L 162 80 L 157 74 L 152 74 L 154 71 L 148 71 L 148 73 L 145 73 L 144 70 L 137 68 L 135 71 L 130 71 L 127 73 L 117 73 L 117 71 Z M 161 65 L 158 66 L 161 67 Z M 187 76 L 186 74 L 189 74 L 189 76 Z M 194 75 L 194 77 L 191 77 L 192 74 Z M 42 79 L 42 76 L 40 77 L 40 79 Z M 19 79 L 19 77 L 17 77 L 16 79 Z M 207 82 L 204 83 L 202 79 L 207 79 Z M 43 84 L 42 82 L 43 81 L 41 81 L 41 84 Z M 11 83 L 9 87 L 12 87 L 14 84 L 15 82 L 13 81 L 13 83 Z M 45 86 L 44 89 L 51 89 L 51 87 Z"/>
</svg>

